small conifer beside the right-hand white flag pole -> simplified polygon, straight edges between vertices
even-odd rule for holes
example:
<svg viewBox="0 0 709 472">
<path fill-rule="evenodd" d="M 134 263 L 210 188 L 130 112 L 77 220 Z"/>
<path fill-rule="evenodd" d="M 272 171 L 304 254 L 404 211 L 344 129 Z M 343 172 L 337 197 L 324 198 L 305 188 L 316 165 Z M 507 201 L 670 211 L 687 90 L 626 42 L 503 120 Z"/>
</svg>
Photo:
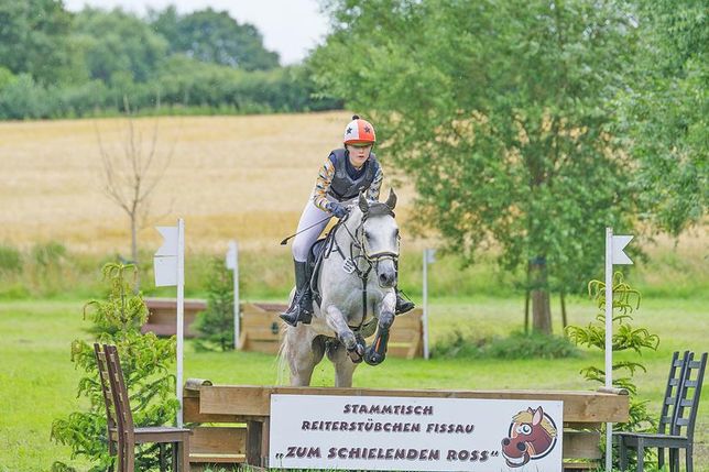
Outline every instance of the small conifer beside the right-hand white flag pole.
<svg viewBox="0 0 709 472">
<path fill-rule="evenodd" d="M 640 308 L 641 294 L 633 289 L 621 272 L 613 274 L 613 338 L 611 340 L 613 353 L 633 351 L 642 355 L 644 350 L 657 351 L 659 337 L 646 328 L 633 328 L 633 311 Z M 596 322 L 586 327 L 569 326 L 566 332 L 576 344 L 587 348 L 606 350 L 606 284 L 601 281 L 591 281 L 588 284 L 588 294 L 596 301 L 598 315 Z M 618 315 L 617 315 L 618 312 Z M 651 431 L 655 430 L 657 421 L 647 410 L 647 402 L 640 400 L 634 376 L 637 372 L 646 372 L 643 363 L 634 360 L 614 360 L 613 386 L 625 388 L 630 393 L 630 419 L 628 422 L 615 425 L 615 430 L 621 431 Z M 606 370 L 598 366 L 581 369 L 581 375 L 590 382 L 606 384 Z"/>
</svg>

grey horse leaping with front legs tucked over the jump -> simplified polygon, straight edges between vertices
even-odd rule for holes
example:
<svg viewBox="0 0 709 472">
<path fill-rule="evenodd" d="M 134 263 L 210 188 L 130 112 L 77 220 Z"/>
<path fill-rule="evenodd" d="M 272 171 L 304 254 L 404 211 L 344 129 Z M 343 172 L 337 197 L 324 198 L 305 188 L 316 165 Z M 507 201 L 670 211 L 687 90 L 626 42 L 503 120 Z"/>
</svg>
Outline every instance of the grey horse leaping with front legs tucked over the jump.
<svg viewBox="0 0 709 472">
<path fill-rule="evenodd" d="M 281 365 L 288 364 L 291 385 L 309 385 L 325 354 L 335 364 L 338 387 L 352 386 L 352 374 L 362 360 L 370 365 L 384 360 L 396 305 L 395 206 L 393 190 L 384 204 L 369 202 L 360 195 L 334 229 L 314 287 L 321 301 L 319 306 L 313 304 L 313 321 L 297 327 L 284 325 L 280 355 Z M 374 331 L 377 337 L 367 348 L 364 338 Z"/>
</svg>

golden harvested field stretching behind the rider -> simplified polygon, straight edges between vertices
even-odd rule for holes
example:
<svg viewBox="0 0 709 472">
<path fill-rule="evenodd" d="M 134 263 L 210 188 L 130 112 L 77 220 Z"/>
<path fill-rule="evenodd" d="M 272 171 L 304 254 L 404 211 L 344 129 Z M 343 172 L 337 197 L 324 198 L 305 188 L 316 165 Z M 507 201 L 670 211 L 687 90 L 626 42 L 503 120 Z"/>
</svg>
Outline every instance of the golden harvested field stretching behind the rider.
<svg viewBox="0 0 709 472">
<path fill-rule="evenodd" d="M 156 160 L 172 153 L 139 238 L 159 244 L 152 227 L 182 217 L 188 250 L 221 251 L 229 239 L 277 246 L 350 119 L 346 111 L 134 119 L 143 152 L 156 129 Z M 128 219 L 102 190 L 99 146 L 100 138 L 120 155 L 127 136 L 124 119 L 0 123 L 0 242 L 127 252 Z M 401 217 L 411 193 L 400 190 Z"/>
</svg>

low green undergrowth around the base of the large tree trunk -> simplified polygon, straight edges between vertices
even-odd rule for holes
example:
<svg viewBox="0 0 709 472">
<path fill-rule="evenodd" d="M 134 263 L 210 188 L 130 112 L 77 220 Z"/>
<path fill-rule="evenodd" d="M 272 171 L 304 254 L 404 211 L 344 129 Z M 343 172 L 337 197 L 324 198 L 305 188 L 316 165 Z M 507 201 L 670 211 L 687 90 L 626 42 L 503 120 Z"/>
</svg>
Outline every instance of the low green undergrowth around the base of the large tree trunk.
<svg viewBox="0 0 709 472">
<path fill-rule="evenodd" d="M 579 355 L 578 349 L 560 336 L 514 331 L 508 337 L 475 339 L 460 330 L 454 330 L 438 341 L 433 353 L 444 359 L 565 359 Z"/>
</svg>

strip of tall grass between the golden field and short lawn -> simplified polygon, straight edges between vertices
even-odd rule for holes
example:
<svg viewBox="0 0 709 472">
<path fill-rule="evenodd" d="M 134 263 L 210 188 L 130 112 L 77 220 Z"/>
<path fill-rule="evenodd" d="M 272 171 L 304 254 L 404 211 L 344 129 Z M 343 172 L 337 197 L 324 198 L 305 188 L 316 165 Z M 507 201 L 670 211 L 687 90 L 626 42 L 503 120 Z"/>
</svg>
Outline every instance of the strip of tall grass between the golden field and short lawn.
<svg viewBox="0 0 709 472">
<path fill-rule="evenodd" d="M 0 299 L 86 299 L 103 294 L 100 268 L 119 254 L 74 252 L 58 242 L 39 243 L 21 250 L 0 245 Z M 188 251 L 185 256 L 185 294 L 206 296 L 209 266 L 222 254 Z M 141 252 L 141 289 L 149 296 L 174 296 L 174 288 L 154 286 L 152 253 Z M 264 263 L 265 261 L 265 263 Z M 285 300 L 293 284 L 288 249 L 242 250 L 239 254 L 239 286 L 242 299 Z M 456 255 L 443 256 L 429 266 L 428 290 L 439 298 L 472 296 L 524 297 L 523 274 L 501 272 L 492 255 L 462 267 Z M 669 249 L 657 250 L 639 264 L 630 278 L 645 297 L 707 298 L 709 275 L 701 259 L 683 257 Z M 422 253 L 404 251 L 400 264 L 400 288 L 415 300 L 422 296 Z M 582 294 L 580 294 L 582 295 Z"/>
</svg>

